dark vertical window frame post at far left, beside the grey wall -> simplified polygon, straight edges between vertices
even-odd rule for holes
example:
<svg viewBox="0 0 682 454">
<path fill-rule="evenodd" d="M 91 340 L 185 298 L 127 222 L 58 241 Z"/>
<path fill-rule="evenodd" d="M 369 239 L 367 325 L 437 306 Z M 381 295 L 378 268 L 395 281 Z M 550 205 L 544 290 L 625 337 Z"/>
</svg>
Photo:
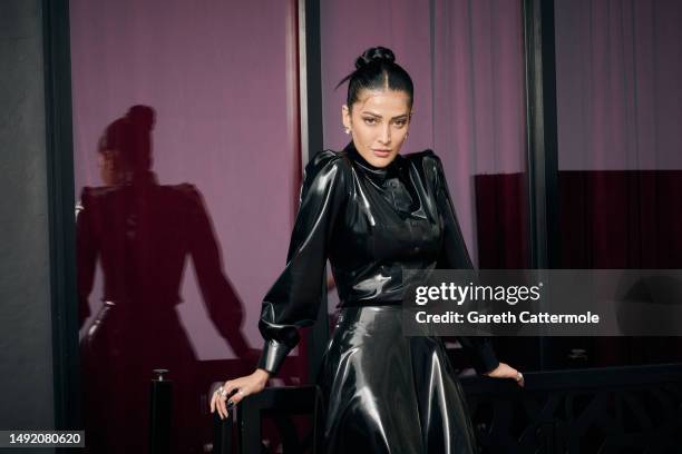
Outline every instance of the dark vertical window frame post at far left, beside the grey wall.
<svg viewBox="0 0 682 454">
<path fill-rule="evenodd" d="M 42 30 L 55 428 L 78 430 L 82 424 L 68 0 L 42 1 Z"/>
</svg>

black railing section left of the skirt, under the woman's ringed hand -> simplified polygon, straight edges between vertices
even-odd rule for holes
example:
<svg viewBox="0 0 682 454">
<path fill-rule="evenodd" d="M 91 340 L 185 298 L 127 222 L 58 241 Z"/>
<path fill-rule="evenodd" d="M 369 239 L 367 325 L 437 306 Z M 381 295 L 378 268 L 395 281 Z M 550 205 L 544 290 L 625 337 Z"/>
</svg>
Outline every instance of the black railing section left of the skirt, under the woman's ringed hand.
<svg viewBox="0 0 682 454">
<path fill-rule="evenodd" d="M 216 387 L 215 384 L 212 388 L 214 387 Z M 233 434 L 236 435 L 238 454 L 264 452 L 261 444 L 263 414 L 272 416 L 280 428 L 284 454 L 301 453 L 306 448 L 310 448 L 311 453 L 321 453 L 324 412 L 322 393 L 318 386 L 265 388 L 261 393 L 242 401 L 238 408 L 233 408 L 226 420 L 221 420 L 215 413 L 213 452 L 216 454 L 234 454 L 232 451 Z M 290 416 L 305 414 L 312 417 L 312 432 L 310 436 L 299 440 Z"/>
</svg>

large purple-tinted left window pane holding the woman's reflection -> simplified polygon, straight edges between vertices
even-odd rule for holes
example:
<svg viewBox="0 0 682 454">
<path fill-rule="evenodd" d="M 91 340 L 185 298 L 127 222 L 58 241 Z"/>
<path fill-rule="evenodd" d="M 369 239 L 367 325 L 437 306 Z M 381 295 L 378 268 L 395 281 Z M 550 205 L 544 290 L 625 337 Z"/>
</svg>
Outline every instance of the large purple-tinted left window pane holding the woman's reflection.
<svg viewBox="0 0 682 454">
<path fill-rule="evenodd" d="M 298 200 L 295 8 L 70 2 L 90 452 L 147 451 L 154 368 L 174 452 L 204 452 L 211 383 L 253 371 Z"/>
</svg>

